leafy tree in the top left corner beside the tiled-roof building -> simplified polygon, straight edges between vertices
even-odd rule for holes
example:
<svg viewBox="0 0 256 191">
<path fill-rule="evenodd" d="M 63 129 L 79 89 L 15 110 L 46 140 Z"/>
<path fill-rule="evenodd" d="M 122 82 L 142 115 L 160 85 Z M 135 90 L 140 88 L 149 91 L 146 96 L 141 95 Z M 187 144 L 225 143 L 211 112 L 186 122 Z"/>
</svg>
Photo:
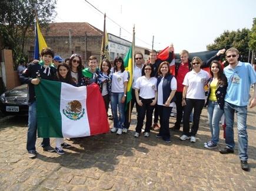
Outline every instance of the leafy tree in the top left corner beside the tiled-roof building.
<svg viewBox="0 0 256 191">
<path fill-rule="evenodd" d="M 49 23 L 56 16 L 55 8 L 56 0 L 0 1 L 0 37 L 3 47 L 12 49 L 15 66 L 24 59 L 25 39 L 34 29 L 35 11 L 41 23 Z"/>
</svg>

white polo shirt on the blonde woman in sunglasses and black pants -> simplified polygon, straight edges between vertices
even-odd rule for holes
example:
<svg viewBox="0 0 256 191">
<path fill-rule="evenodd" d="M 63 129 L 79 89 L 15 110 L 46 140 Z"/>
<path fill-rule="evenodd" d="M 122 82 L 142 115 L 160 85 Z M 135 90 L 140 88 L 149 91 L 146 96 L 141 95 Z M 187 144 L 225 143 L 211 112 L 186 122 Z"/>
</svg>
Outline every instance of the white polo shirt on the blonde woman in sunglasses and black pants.
<svg viewBox="0 0 256 191">
<path fill-rule="evenodd" d="M 182 83 L 184 86 L 188 86 L 186 98 L 204 100 L 204 86 L 209 78 L 210 76 L 207 71 L 200 70 L 198 73 L 194 70 L 189 71 Z"/>
</svg>

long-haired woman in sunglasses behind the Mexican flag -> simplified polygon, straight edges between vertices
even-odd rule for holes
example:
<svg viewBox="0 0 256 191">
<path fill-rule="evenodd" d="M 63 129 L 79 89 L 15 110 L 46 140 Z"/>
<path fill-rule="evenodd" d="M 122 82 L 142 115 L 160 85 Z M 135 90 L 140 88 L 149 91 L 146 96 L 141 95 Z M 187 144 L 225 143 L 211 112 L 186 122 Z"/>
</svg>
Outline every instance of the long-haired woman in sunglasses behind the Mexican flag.
<svg viewBox="0 0 256 191">
<path fill-rule="evenodd" d="M 69 59 L 69 68 L 71 69 L 72 80 L 75 82 L 76 86 L 84 86 L 84 76 L 82 75 L 82 70 L 84 66 L 82 66 L 81 56 L 78 54 L 72 54 Z"/>
</svg>

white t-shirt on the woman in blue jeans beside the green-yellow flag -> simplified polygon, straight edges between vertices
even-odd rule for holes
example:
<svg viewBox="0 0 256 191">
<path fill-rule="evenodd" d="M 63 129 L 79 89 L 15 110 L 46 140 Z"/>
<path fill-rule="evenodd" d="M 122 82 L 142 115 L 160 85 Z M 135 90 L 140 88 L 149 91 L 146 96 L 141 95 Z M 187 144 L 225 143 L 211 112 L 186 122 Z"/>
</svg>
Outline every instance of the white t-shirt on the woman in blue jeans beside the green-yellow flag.
<svg viewBox="0 0 256 191">
<path fill-rule="evenodd" d="M 125 81 L 128 81 L 128 72 L 115 71 L 112 75 L 111 92 L 124 93 Z"/>
</svg>

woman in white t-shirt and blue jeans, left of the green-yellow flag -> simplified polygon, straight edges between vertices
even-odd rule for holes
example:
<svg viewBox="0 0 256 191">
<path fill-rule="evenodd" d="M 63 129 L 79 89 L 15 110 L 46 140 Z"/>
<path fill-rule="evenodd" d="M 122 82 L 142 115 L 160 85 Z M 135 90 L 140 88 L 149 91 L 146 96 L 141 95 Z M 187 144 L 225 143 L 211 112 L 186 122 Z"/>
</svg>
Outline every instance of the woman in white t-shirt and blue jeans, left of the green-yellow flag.
<svg viewBox="0 0 256 191">
<path fill-rule="evenodd" d="M 117 135 L 121 135 L 124 128 L 127 83 L 128 72 L 124 69 L 124 60 L 122 57 L 116 57 L 111 82 L 111 110 L 114 120 L 114 127 L 111 129 L 111 132 L 117 132 Z M 117 115 L 117 108 L 119 117 Z"/>
</svg>

